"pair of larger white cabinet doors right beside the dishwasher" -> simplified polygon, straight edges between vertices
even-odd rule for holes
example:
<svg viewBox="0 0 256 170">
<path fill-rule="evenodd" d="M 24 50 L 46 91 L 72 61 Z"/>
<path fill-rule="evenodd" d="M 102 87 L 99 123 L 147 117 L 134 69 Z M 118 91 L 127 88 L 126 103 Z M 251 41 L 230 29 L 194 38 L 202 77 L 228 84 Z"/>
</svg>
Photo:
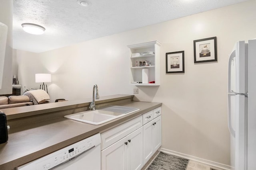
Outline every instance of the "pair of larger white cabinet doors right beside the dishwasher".
<svg viewBox="0 0 256 170">
<path fill-rule="evenodd" d="M 140 170 L 143 167 L 143 129 L 140 127 L 101 151 L 102 170 Z"/>
</svg>

